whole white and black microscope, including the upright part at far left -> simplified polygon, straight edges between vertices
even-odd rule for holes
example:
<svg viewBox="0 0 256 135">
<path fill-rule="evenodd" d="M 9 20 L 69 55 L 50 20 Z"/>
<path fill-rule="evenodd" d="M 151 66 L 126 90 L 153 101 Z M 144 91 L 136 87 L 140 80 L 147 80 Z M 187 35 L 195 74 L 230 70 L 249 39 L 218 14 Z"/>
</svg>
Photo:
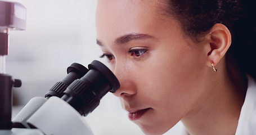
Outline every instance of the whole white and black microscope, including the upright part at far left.
<svg viewBox="0 0 256 135">
<path fill-rule="evenodd" d="M 44 97 L 32 98 L 11 118 L 12 87 L 21 87 L 21 80 L 5 73 L 8 31 L 25 30 L 25 24 L 22 4 L 0 1 L 0 135 L 93 134 L 83 116 L 91 113 L 107 92 L 114 93 L 120 87 L 115 75 L 96 60 L 88 68 L 71 64 L 66 77 Z"/>
</svg>

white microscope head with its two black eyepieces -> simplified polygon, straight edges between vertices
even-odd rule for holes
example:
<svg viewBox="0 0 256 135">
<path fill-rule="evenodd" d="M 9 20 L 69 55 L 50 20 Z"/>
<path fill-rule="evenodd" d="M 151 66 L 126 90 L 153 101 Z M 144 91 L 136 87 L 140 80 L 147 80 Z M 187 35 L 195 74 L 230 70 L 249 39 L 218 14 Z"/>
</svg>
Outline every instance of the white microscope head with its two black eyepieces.
<svg viewBox="0 0 256 135">
<path fill-rule="evenodd" d="M 100 61 L 88 68 L 73 63 L 68 75 L 57 82 L 45 98 L 34 97 L 12 119 L 12 127 L 2 128 L 0 135 L 91 135 L 83 116 L 91 113 L 107 92 L 115 92 L 120 84 Z"/>
</svg>

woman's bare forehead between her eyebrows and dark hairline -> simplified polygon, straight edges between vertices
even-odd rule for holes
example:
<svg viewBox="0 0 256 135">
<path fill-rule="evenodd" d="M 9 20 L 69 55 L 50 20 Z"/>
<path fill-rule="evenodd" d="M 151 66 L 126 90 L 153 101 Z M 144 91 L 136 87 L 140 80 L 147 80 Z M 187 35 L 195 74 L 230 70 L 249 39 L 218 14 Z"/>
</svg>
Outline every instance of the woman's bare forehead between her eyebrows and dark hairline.
<svg viewBox="0 0 256 135">
<path fill-rule="evenodd" d="M 158 8 L 157 3 L 157 1 L 100 0 L 96 13 L 97 38 L 101 39 L 98 36 L 110 33 L 115 35 L 115 38 L 127 33 L 155 33 L 164 23 L 163 16 L 155 10 Z"/>
</svg>

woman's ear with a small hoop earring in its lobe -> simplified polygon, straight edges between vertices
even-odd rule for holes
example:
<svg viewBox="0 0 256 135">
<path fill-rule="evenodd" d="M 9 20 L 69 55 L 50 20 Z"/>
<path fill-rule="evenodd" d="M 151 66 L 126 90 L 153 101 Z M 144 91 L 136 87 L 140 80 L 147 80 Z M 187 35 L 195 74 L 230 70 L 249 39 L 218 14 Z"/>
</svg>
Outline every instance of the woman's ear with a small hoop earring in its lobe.
<svg viewBox="0 0 256 135">
<path fill-rule="evenodd" d="M 212 67 L 212 63 L 217 65 L 231 45 L 230 30 L 223 24 L 215 24 L 207 38 L 206 47 L 209 49 L 206 65 Z"/>
</svg>

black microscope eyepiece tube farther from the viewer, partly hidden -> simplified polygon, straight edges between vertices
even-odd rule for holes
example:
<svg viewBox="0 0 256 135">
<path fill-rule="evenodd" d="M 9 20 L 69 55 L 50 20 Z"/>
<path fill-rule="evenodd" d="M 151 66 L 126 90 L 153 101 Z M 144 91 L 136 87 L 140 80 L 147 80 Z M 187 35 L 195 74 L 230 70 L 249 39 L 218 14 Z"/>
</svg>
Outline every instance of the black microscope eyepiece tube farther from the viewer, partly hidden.
<svg viewBox="0 0 256 135">
<path fill-rule="evenodd" d="M 81 64 L 73 63 L 67 68 L 66 77 L 57 82 L 45 95 L 46 98 L 51 96 L 62 97 L 66 88 L 75 80 L 83 77 L 89 70 Z"/>
</svg>

